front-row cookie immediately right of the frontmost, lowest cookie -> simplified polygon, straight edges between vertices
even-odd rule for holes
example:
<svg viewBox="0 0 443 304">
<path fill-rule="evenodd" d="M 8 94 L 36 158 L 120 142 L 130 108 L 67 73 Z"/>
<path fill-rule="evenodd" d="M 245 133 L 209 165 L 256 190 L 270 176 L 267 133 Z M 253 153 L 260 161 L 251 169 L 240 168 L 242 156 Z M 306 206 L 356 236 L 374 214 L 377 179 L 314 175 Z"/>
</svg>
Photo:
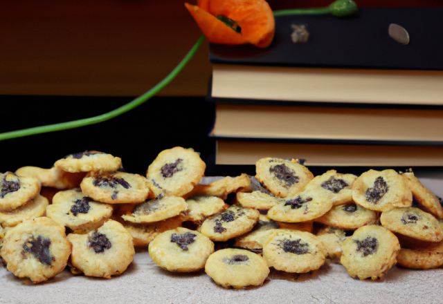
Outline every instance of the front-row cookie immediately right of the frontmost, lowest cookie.
<svg viewBox="0 0 443 304">
<path fill-rule="evenodd" d="M 320 268 L 326 255 L 323 243 L 305 231 L 277 230 L 263 247 L 269 267 L 298 274 Z"/>
</svg>

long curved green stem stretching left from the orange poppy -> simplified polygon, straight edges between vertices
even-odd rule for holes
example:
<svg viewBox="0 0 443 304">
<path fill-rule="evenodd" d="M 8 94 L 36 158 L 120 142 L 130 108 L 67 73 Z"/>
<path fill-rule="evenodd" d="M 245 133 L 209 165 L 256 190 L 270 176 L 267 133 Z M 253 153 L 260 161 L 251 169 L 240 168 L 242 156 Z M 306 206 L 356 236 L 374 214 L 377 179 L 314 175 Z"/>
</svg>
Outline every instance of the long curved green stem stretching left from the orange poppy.
<svg viewBox="0 0 443 304">
<path fill-rule="evenodd" d="M 120 108 L 116 108 L 114 111 L 98 115 L 95 117 L 84 118 L 83 120 L 74 120 L 72 122 L 62 122 L 61 124 L 49 124 L 47 126 L 37 126 L 35 128 L 30 128 L 30 129 L 0 133 L 0 140 L 8 140 L 10 138 L 15 138 L 15 137 L 23 137 L 39 133 L 73 129 L 73 128 L 78 128 L 79 126 L 87 126 L 88 124 L 98 124 L 99 122 L 105 122 L 105 120 L 110 120 L 111 118 L 114 118 L 120 114 L 130 111 L 136 106 L 140 106 L 141 104 L 143 104 L 143 102 L 146 102 L 152 96 L 156 95 L 156 93 L 159 93 L 159 91 L 161 91 L 162 88 L 168 85 L 172 81 L 172 79 L 174 79 L 181 72 L 181 70 L 183 70 L 186 64 L 188 64 L 188 61 L 190 61 L 190 59 L 197 52 L 199 46 L 204 41 L 204 39 L 205 37 L 201 36 L 199 41 L 197 41 L 197 43 L 192 47 L 189 53 L 180 61 L 179 65 L 176 66 L 174 70 L 172 70 L 172 72 L 168 76 L 166 76 L 161 82 L 159 82 L 159 84 L 156 84 L 154 88 L 151 88 L 150 91 L 147 91 L 145 94 L 141 95 L 140 97 L 137 97 L 132 102 L 129 102 L 124 106 L 120 106 Z"/>
</svg>

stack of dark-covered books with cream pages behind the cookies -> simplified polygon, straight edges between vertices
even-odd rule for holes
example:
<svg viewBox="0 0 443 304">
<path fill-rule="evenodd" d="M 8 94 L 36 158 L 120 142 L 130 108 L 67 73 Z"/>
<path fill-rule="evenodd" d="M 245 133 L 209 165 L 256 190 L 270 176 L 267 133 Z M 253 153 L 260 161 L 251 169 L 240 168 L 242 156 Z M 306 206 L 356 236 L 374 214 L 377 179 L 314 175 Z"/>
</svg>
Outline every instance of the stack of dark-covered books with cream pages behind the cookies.
<svg viewBox="0 0 443 304">
<path fill-rule="evenodd" d="M 443 166 L 442 15 L 365 8 L 346 19 L 282 16 L 269 48 L 211 44 L 216 164 L 272 156 L 318 166 Z M 388 35 L 390 23 L 408 30 L 410 44 Z M 306 43 L 291 41 L 298 24 L 307 26 Z"/>
</svg>

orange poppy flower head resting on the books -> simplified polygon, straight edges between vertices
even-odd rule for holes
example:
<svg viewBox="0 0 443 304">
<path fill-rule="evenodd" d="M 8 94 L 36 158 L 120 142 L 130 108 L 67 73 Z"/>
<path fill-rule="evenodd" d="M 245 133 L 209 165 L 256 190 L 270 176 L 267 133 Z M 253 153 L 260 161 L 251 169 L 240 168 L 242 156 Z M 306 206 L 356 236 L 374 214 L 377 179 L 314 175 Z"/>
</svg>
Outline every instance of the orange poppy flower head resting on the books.
<svg viewBox="0 0 443 304">
<path fill-rule="evenodd" d="M 197 6 L 185 6 L 206 38 L 215 44 L 266 48 L 274 37 L 274 16 L 264 0 L 197 0 Z"/>
</svg>

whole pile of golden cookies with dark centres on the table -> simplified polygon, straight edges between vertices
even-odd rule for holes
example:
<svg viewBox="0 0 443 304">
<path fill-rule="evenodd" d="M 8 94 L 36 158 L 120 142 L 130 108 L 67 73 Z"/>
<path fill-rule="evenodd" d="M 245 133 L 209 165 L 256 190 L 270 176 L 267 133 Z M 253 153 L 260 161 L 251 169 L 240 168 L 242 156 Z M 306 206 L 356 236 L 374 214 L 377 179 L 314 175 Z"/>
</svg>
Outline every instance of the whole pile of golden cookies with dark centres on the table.
<svg viewBox="0 0 443 304">
<path fill-rule="evenodd" d="M 1 174 L 3 263 L 34 283 L 66 265 L 111 278 L 132 263 L 134 246 L 149 245 L 163 269 L 205 269 L 235 288 L 262 285 L 270 268 L 311 272 L 326 258 L 373 280 L 396 263 L 443 265 L 443 208 L 412 171 L 314 177 L 302 160 L 279 158 L 259 160 L 255 177 L 211 178 L 205 169 L 198 153 L 175 147 L 146 177 L 98 151 Z"/>
</svg>

